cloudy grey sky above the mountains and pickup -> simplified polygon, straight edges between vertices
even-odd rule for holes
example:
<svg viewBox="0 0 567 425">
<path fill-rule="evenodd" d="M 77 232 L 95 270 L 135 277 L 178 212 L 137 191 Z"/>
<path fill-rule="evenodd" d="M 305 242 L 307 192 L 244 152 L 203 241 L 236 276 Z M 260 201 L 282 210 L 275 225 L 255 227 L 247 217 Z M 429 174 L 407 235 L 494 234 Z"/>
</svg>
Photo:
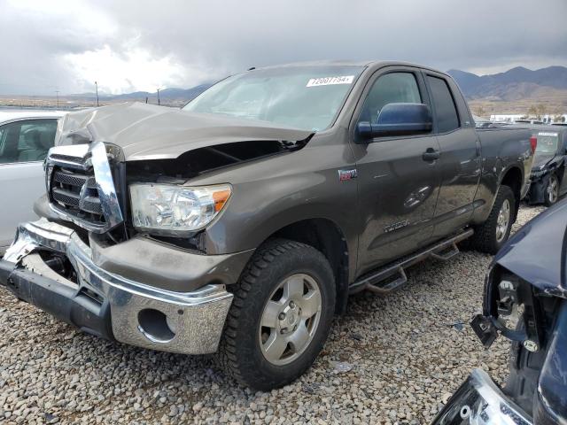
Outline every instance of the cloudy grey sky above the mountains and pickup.
<svg viewBox="0 0 567 425">
<path fill-rule="evenodd" d="M 250 66 L 567 66 L 566 0 L 0 0 L 0 94 L 189 88 Z"/>
</svg>

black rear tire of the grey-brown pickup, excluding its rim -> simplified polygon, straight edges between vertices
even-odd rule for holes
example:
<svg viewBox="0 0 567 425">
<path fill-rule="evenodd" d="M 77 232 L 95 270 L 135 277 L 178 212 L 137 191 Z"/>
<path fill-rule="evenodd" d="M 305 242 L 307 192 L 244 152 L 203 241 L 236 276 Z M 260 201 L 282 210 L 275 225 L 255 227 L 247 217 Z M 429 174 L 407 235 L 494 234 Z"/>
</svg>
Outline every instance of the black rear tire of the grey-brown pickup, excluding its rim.
<svg viewBox="0 0 567 425">
<path fill-rule="evenodd" d="M 498 227 L 498 217 L 501 211 L 501 207 L 504 202 L 508 201 L 510 216 L 508 220 L 508 228 L 503 232 L 504 237 L 499 239 L 497 234 Z M 501 246 L 508 241 L 510 230 L 512 228 L 512 223 L 516 217 L 516 197 L 514 197 L 514 192 L 509 186 L 501 185 L 496 194 L 496 199 L 494 199 L 493 209 L 490 211 L 486 221 L 475 228 L 475 234 L 470 238 L 470 246 L 481 252 L 494 255 Z"/>
</svg>

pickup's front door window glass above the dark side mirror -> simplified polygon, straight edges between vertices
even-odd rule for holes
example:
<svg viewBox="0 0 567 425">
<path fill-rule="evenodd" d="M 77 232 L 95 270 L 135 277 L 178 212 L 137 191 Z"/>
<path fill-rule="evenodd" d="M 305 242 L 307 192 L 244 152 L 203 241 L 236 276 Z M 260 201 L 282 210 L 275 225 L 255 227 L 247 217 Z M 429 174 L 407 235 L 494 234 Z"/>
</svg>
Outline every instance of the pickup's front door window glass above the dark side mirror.
<svg viewBox="0 0 567 425">
<path fill-rule="evenodd" d="M 413 73 L 386 73 L 369 91 L 362 106 L 359 121 L 376 123 L 386 104 L 421 104 L 422 97 Z"/>
</svg>

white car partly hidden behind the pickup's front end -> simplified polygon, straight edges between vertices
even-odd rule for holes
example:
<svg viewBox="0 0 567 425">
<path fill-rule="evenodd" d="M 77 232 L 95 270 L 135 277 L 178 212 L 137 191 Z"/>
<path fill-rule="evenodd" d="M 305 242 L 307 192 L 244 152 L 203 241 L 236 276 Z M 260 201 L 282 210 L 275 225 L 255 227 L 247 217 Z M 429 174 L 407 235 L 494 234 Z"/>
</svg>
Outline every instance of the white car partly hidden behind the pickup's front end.
<svg viewBox="0 0 567 425">
<path fill-rule="evenodd" d="M 0 111 L 0 256 L 45 193 L 43 159 L 65 112 Z"/>
</svg>

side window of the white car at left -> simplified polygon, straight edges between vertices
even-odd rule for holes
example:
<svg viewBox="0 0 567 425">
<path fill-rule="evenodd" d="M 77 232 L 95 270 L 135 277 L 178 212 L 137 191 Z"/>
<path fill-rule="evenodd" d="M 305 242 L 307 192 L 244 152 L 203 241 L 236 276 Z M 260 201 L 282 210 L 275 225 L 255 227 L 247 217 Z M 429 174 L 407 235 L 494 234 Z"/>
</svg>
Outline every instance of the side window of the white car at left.
<svg viewBox="0 0 567 425">
<path fill-rule="evenodd" d="M 53 146 L 57 120 L 21 120 L 0 127 L 0 164 L 43 161 Z"/>
</svg>

